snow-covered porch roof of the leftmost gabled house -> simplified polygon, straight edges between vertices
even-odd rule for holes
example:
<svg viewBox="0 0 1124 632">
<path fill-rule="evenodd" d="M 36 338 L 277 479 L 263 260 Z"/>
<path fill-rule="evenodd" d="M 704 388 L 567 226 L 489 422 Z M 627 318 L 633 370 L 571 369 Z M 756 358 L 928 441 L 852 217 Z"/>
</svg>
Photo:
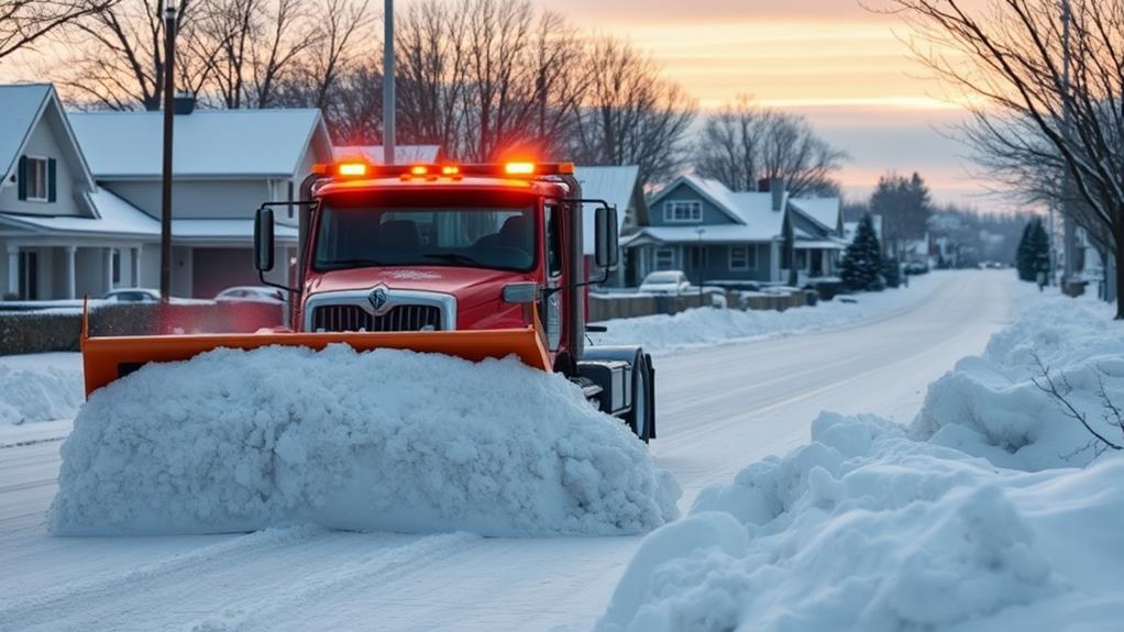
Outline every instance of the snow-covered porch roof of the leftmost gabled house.
<svg viewBox="0 0 1124 632">
<path fill-rule="evenodd" d="M 88 237 L 160 237 L 160 222 L 106 189 L 87 193 L 94 217 L 0 213 L 6 223 L 31 230 Z"/>
</svg>

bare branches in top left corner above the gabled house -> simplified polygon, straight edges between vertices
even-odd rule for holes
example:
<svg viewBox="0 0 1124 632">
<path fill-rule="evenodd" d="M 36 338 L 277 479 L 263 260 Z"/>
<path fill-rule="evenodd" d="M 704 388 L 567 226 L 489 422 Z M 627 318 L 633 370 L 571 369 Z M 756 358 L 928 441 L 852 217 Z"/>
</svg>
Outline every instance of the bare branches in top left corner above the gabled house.
<svg viewBox="0 0 1124 632">
<path fill-rule="evenodd" d="M 52 31 L 117 0 L 2 0 L 0 1 L 0 59 L 31 48 Z"/>
</svg>

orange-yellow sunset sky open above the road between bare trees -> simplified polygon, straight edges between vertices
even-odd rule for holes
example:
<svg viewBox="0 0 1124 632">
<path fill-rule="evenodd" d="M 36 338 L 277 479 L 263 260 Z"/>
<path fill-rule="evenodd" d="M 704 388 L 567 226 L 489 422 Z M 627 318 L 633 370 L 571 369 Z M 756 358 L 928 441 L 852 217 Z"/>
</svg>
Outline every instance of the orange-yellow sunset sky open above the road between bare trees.
<svg viewBox="0 0 1124 632">
<path fill-rule="evenodd" d="M 916 170 L 941 201 L 1001 204 L 982 195 L 986 187 L 964 168 L 963 147 L 948 138 L 962 111 L 910 58 L 899 18 L 874 15 L 859 0 L 568 0 L 564 7 L 584 29 L 651 51 L 704 108 L 749 93 L 806 115 L 851 154 L 842 174 L 851 195 L 868 193 L 889 170 Z"/>
</svg>

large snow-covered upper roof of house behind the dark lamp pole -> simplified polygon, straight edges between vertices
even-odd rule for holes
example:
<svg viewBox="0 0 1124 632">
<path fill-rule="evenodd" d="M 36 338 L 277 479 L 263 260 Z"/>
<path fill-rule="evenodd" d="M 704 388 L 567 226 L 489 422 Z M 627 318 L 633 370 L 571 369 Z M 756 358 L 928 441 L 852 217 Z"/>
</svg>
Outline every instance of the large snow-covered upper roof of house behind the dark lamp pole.
<svg viewBox="0 0 1124 632">
<path fill-rule="evenodd" d="M 163 112 L 71 112 L 98 178 L 161 175 Z M 175 117 L 176 177 L 291 177 L 310 143 L 327 131 L 320 111 L 197 110 Z"/>
</svg>

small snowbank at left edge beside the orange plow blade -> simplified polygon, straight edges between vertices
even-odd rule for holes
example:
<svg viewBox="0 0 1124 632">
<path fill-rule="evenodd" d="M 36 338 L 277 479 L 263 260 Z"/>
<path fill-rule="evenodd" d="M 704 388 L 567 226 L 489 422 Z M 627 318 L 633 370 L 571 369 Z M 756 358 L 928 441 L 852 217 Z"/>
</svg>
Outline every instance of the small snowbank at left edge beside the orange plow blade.
<svg viewBox="0 0 1124 632">
<path fill-rule="evenodd" d="M 0 424 L 72 419 L 82 405 L 78 354 L 0 358 Z"/>
</svg>

